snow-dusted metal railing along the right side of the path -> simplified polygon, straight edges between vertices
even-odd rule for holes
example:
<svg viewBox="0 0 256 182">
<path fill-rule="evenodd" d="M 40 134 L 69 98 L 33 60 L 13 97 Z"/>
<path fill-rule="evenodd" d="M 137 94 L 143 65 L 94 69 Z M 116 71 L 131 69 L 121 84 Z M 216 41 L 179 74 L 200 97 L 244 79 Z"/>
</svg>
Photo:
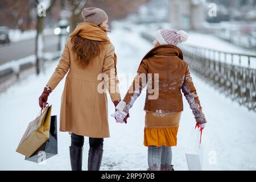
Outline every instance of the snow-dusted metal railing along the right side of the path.
<svg viewBox="0 0 256 182">
<path fill-rule="evenodd" d="M 154 39 L 144 32 L 142 36 L 149 41 Z M 186 44 L 179 47 L 193 73 L 233 101 L 256 111 L 256 55 Z"/>
</svg>

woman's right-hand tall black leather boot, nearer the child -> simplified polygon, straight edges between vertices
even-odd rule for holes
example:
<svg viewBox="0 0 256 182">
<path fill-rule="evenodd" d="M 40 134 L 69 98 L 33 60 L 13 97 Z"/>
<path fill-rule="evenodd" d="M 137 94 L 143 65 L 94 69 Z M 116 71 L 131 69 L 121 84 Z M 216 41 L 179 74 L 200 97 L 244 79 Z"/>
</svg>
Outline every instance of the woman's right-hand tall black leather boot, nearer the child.
<svg viewBox="0 0 256 182">
<path fill-rule="evenodd" d="M 102 146 L 90 147 L 88 156 L 88 171 L 100 171 L 102 155 Z"/>
</svg>

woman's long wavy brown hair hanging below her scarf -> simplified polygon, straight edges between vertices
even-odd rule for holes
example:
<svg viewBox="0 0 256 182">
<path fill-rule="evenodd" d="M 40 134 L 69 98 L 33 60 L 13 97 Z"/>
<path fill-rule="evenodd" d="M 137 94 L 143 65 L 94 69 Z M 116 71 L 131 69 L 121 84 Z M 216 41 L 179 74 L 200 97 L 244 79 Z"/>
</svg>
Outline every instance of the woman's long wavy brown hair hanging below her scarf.
<svg viewBox="0 0 256 182">
<path fill-rule="evenodd" d="M 85 39 L 79 35 L 73 36 L 71 42 L 77 56 L 77 63 L 81 68 L 85 68 L 90 60 L 100 53 L 101 45 L 104 44 L 104 42 Z"/>
</svg>

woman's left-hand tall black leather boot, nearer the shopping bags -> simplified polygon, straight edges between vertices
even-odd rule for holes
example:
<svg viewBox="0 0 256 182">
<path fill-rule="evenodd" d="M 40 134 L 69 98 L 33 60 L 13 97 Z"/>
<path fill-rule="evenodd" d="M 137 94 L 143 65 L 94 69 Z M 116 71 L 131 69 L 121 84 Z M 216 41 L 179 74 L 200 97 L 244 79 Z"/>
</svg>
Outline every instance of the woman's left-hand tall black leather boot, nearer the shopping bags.
<svg viewBox="0 0 256 182">
<path fill-rule="evenodd" d="M 82 147 L 69 147 L 72 171 L 82 171 Z"/>
</svg>

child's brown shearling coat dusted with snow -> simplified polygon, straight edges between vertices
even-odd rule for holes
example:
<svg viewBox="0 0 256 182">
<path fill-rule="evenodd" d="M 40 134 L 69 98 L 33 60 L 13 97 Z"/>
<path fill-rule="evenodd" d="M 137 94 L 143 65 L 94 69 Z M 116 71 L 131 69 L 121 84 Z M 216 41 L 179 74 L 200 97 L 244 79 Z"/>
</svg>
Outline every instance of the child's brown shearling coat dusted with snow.
<svg viewBox="0 0 256 182">
<path fill-rule="evenodd" d="M 150 74 L 151 76 L 148 77 Z M 158 74 L 158 79 L 155 79 L 156 74 Z M 147 76 L 146 82 L 144 81 L 146 84 L 143 84 L 142 75 Z M 124 111 L 130 109 L 146 85 L 145 111 L 159 114 L 183 111 L 182 90 L 196 121 L 199 123 L 207 122 L 190 75 L 188 63 L 183 60 L 183 53 L 178 47 L 158 46 L 144 56 L 137 76 L 123 98 L 127 104 L 123 109 Z"/>
</svg>

